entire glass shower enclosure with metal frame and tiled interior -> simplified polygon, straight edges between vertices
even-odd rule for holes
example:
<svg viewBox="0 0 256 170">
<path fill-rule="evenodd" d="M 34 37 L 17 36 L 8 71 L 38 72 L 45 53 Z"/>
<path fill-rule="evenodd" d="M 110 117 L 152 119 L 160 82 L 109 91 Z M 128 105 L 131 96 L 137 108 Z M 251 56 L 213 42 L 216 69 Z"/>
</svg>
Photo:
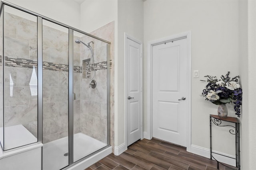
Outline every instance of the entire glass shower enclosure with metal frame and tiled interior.
<svg viewBox="0 0 256 170">
<path fill-rule="evenodd" d="M 0 12 L 2 152 L 42 143 L 42 169 L 59 170 L 109 147 L 110 43 L 5 1 Z"/>
</svg>

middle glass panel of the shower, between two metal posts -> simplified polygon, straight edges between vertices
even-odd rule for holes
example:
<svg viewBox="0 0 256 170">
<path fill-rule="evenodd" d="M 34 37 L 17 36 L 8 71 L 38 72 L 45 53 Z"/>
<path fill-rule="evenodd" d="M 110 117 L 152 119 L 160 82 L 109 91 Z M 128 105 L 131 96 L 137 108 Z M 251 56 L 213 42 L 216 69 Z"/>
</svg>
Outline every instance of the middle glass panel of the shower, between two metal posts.
<svg viewBox="0 0 256 170">
<path fill-rule="evenodd" d="M 68 28 L 43 20 L 43 170 L 69 165 Z"/>
</svg>

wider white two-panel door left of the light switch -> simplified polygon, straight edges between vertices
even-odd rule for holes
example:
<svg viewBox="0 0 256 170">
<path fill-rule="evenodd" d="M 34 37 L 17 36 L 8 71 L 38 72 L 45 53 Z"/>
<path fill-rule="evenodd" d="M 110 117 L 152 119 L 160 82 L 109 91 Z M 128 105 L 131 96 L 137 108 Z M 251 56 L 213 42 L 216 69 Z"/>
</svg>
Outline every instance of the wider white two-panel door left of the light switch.
<svg viewBox="0 0 256 170">
<path fill-rule="evenodd" d="M 186 147 L 187 39 L 154 45 L 152 54 L 152 136 Z"/>
</svg>

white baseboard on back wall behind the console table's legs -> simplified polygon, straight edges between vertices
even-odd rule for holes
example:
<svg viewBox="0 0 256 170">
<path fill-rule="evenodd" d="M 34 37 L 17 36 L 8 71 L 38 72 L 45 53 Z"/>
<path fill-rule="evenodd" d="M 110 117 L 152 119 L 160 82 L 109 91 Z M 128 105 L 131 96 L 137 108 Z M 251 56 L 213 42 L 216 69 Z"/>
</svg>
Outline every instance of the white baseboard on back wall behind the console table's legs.
<svg viewBox="0 0 256 170">
<path fill-rule="evenodd" d="M 194 154 L 198 154 L 200 156 L 204 156 L 206 158 L 210 158 L 210 149 L 207 149 L 207 148 L 198 147 L 196 145 L 191 145 L 191 152 Z M 214 151 L 214 150 L 212 150 L 212 152 L 218 153 L 218 154 L 212 153 L 212 156 L 214 156 L 214 158 L 216 158 L 216 160 L 218 160 L 219 162 L 223 162 L 225 164 L 236 166 L 236 159 L 235 159 L 236 157 L 235 156 L 221 153 L 221 152 Z M 219 154 L 222 154 L 225 156 L 222 156 Z M 231 158 L 228 158 L 226 156 L 229 156 Z M 234 158 L 234 159 L 232 159 L 232 158 Z"/>
</svg>

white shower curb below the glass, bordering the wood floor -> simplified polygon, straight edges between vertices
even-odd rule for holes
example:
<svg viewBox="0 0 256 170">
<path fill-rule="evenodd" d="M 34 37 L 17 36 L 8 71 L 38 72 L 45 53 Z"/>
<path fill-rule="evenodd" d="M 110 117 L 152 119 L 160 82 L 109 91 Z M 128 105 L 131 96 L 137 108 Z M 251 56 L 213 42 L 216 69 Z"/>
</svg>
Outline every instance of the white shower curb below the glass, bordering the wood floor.
<svg viewBox="0 0 256 170">
<path fill-rule="evenodd" d="M 111 153 L 112 153 L 112 147 L 110 146 L 110 147 L 94 154 L 93 156 L 90 156 L 86 160 L 83 160 L 82 162 L 75 164 L 74 166 L 68 168 L 67 170 L 83 170 L 83 169 L 91 166 L 92 164 L 98 162 L 102 158 L 108 156 Z"/>
</svg>

